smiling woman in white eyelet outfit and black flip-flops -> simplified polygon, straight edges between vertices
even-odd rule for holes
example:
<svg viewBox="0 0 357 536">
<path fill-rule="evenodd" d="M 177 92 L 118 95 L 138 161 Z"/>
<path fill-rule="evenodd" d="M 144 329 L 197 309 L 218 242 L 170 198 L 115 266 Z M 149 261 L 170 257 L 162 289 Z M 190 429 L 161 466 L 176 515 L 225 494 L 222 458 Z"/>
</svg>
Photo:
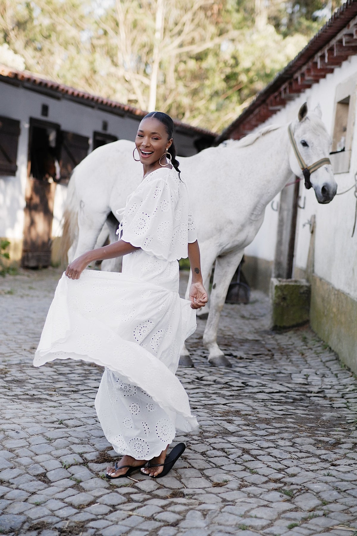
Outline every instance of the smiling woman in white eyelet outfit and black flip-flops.
<svg viewBox="0 0 357 536">
<path fill-rule="evenodd" d="M 105 367 L 95 407 L 108 441 L 124 455 L 119 466 L 107 468 L 109 479 L 139 467 L 150 477 L 164 476 L 185 450 L 180 443 L 166 457 L 176 429 L 198 427 L 175 373 L 196 327 L 194 309 L 206 304 L 207 293 L 172 132 L 166 114 L 141 121 L 134 151 L 143 180 L 119 209 L 123 236 L 120 229 L 118 242 L 87 251 L 67 267 L 34 359 L 35 366 L 71 358 Z M 122 273 L 85 270 L 121 255 Z M 189 301 L 178 294 L 178 259 L 187 256 Z"/>
</svg>

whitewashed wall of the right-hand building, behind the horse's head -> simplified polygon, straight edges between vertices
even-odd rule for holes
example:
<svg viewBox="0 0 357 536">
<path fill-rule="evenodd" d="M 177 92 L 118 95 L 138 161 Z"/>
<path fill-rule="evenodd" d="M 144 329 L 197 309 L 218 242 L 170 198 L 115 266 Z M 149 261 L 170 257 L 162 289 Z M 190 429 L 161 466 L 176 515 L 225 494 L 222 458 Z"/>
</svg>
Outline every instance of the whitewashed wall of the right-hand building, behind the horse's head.
<svg viewBox="0 0 357 536">
<path fill-rule="evenodd" d="M 297 99 L 260 125 L 284 124 L 293 120 L 303 102 L 307 101 L 310 109 L 320 103 L 322 120 L 332 137 L 333 114 L 335 111 L 336 86 L 357 73 L 357 57 L 352 56 L 340 68 L 320 80 L 318 84 L 302 93 Z M 259 130 L 256 129 L 256 130 Z M 357 172 L 357 121 L 354 123 L 350 172 L 336 174 L 337 191 L 346 190 L 354 183 Z M 287 134 L 286 134 L 287 135 Z M 287 187 L 287 188 L 293 188 Z M 355 197 L 354 190 L 342 196 L 336 196 L 331 203 L 317 203 L 313 189 L 306 190 L 300 183 L 301 204 L 305 199 L 305 209 L 298 210 L 297 235 L 295 240 L 294 266 L 306 269 L 310 243 L 310 230 L 306 222 L 316 215 L 315 236 L 315 273 L 328 281 L 335 288 L 357 299 L 357 230 L 351 238 Z M 277 196 L 278 199 L 279 196 Z M 265 218 L 259 233 L 252 244 L 246 248 L 246 254 L 266 260 L 273 260 L 277 236 L 278 214 L 271 206 L 265 210 Z"/>
</svg>

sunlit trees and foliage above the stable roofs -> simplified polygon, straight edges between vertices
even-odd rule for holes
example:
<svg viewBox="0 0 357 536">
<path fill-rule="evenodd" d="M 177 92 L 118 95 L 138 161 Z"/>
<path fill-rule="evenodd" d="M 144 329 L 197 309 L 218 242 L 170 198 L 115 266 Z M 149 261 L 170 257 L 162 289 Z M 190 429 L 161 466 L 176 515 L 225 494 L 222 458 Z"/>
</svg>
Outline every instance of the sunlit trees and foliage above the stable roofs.
<svg viewBox="0 0 357 536">
<path fill-rule="evenodd" d="M 0 0 L 0 61 L 219 131 L 328 8 L 331 0 Z"/>
</svg>

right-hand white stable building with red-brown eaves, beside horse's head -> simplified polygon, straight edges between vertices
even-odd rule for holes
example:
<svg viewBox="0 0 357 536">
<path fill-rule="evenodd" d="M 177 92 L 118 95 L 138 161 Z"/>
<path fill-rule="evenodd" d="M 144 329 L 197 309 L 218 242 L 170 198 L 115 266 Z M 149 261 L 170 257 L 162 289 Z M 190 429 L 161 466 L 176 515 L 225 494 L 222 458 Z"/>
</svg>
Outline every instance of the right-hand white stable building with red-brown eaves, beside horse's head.
<svg viewBox="0 0 357 536">
<path fill-rule="evenodd" d="M 303 182 L 286 186 L 265 210 L 246 248 L 250 284 L 268 291 L 272 274 L 307 278 L 310 324 L 357 372 L 357 0 L 346 2 L 216 140 L 240 139 L 320 105 L 330 132 L 337 195 L 319 205 Z M 272 151 L 277 148 L 272 147 Z M 326 155 L 328 156 L 328 155 Z M 341 195 L 339 195 L 341 194 Z"/>
</svg>

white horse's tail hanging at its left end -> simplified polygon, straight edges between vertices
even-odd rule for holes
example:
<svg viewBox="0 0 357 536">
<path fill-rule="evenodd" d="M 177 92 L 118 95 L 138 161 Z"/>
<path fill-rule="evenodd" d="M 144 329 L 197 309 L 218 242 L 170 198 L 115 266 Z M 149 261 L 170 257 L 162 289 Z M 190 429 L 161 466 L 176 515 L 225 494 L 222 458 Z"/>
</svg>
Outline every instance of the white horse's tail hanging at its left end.
<svg viewBox="0 0 357 536">
<path fill-rule="evenodd" d="M 68 252 L 78 239 L 78 207 L 79 198 L 75 188 L 75 170 L 68 183 L 66 203 L 63 213 L 63 232 L 60 247 L 60 258 L 63 264 L 67 263 Z M 72 260 L 72 259 L 70 259 Z"/>
</svg>

